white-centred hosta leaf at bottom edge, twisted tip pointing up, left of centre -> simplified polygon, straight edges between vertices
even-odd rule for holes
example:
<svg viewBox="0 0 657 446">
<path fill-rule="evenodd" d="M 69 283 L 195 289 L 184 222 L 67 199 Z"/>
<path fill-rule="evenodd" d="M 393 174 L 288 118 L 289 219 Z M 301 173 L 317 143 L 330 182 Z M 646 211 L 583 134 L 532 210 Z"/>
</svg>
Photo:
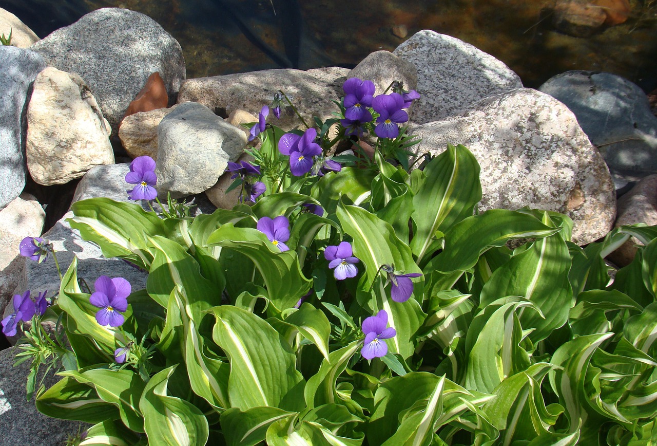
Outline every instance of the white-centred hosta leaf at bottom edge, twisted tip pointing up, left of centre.
<svg viewBox="0 0 657 446">
<path fill-rule="evenodd" d="M 167 395 L 175 366 L 150 378 L 139 400 L 148 443 L 166 446 L 204 446 L 208 441 L 208 420 L 193 404 Z"/>
</svg>

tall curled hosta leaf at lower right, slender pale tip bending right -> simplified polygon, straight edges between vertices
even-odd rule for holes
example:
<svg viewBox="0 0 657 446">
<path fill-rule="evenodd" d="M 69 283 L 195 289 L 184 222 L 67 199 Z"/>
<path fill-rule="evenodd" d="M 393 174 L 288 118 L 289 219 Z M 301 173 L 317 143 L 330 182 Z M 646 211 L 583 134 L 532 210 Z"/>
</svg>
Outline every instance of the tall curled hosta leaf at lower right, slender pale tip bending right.
<svg viewBox="0 0 657 446">
<path fill-rule="evenodd" d="M 550 385 L 559 397 L 559 403 L 566 410 L 570 421 L 569 433 L 581 426 L 580 441 L 597 441 L 600 424 L 606 420 L 590 409 L 585 387 L 591 357 L 595 350 L 613 333 L 583 335 L 562 344 L 552 357 L 555 368 L 549 372 Z M 586 444 L 586 443 L 583 443 Z"/>
</svg>

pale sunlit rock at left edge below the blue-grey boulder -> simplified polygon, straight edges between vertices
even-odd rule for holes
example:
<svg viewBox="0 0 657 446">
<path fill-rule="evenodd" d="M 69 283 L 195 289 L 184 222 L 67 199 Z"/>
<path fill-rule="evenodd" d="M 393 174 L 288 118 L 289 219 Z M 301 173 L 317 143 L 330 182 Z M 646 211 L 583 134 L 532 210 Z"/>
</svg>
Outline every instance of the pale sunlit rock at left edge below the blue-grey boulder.
<svg viewBox="0 0 657 446">
<path fill-rule="evenodd" d="M 18 245 L 24 237 L 41 235 L 44 220 L 43 207 L 25 192 L 0 211 L 0 309 L 11 300 L 25 263 Z"/>
</svg>

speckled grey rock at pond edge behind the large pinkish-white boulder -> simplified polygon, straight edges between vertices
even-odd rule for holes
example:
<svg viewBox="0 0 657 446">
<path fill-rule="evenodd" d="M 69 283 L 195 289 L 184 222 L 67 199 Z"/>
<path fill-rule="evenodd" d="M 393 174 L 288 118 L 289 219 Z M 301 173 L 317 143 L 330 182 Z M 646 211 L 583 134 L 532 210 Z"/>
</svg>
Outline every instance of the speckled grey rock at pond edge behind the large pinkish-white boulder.
<svg viewBox="0 0 657 446">
<path fill-rule="evenodd" d="M 457 114 L 485 97 L 522 87 L 503 62 L 456 37 L 431 30 L 415 33 L 393 54 L 417 68 L 414 124 Z"/>
</svg>

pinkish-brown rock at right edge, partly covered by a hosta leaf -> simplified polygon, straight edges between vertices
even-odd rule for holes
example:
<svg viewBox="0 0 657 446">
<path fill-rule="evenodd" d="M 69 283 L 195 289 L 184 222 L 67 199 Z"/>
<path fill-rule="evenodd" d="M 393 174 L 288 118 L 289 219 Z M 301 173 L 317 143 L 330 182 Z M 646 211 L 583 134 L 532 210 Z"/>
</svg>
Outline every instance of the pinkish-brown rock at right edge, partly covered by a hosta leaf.
<svg viewBox="0 0 657 446">
<path fill-rule="evenodd" d="M 618 217 L 615 226 L 623 224 L 657 224 L 657 175 L 641 178 L 636 186 L 618 199 Z M 620 248 L 609 255 L 618 266 L 629 264 L 637 254 L 637 245 L 643 245 L 636 237 L 631 237 Z"/>
</svg>

